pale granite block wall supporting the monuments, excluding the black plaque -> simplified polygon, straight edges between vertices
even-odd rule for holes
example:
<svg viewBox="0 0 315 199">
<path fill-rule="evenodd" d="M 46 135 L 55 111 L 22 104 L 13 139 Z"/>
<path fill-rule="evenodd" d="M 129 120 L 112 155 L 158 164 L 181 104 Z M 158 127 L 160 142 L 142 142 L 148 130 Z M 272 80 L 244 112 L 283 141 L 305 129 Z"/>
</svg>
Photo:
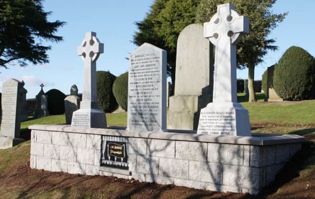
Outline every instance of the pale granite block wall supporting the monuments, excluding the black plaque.
<svg viewBox="0 0 315 199">
<path fill-rule="evenodd" d="M 129 170 L 101 167 L 101 135 L 32 130 L 31 168 L 258 194 L 301 149 L 301 142 L 264 146 L 125 138 Z"/>
</svg>

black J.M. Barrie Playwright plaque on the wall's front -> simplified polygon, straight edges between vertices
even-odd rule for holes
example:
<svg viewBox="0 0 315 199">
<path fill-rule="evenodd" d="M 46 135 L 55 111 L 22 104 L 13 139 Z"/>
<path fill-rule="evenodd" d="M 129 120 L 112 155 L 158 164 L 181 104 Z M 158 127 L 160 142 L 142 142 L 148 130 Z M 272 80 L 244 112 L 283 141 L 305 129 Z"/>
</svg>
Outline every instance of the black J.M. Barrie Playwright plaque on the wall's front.
<svg viewBox="0 0 315 199">
<path fill-rule="evenodd" d="M 102 142 L 101 166 L 128 170 L 128 139 L 103 136 Z"/>
</svg>

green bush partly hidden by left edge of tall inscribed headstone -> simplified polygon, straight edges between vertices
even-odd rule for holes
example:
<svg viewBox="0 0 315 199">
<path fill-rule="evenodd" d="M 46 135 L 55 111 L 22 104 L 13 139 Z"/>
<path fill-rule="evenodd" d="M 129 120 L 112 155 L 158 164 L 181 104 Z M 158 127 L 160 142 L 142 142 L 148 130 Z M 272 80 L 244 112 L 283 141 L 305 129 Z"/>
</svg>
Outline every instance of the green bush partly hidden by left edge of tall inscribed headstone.
<svg viewBox="0 0 315 199">
<path fill-rule="evenodd" d="M 128 107 L 128 72 L 121 74 L 114 82 L 113 92 L 122 109 L 127 111 Z"/>
</svg>

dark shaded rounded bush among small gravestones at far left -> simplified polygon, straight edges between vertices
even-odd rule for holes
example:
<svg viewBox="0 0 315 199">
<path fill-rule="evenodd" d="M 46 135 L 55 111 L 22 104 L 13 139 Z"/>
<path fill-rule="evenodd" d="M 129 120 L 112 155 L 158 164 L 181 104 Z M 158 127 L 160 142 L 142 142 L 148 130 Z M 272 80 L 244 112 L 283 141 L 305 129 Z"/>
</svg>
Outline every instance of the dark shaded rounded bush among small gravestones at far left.
<svg viewBox="0 0 315 199">
<path fill-rule="evenodd" d="M 47 109 L 49 114 L 64 114 L 65 94 L 57 89 L 51 89 L 45 93 L 48 96 Z"/>
</svg>

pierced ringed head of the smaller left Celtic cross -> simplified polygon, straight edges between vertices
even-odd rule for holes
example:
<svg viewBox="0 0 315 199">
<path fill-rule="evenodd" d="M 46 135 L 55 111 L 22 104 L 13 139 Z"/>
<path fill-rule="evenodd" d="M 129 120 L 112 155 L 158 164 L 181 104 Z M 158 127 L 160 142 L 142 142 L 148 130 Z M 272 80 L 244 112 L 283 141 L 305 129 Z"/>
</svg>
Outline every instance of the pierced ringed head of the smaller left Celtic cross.
<svg viewBox="0 0 315 199">
<path fill-rule="evenodd" d="M 96 32 L 87 32 L 81 46 L 78 47 L 78 56 L 81 56 L 83 61 L 96 61 L 103 52 L 104 44 L 96 38 Z"/>
</svg>

